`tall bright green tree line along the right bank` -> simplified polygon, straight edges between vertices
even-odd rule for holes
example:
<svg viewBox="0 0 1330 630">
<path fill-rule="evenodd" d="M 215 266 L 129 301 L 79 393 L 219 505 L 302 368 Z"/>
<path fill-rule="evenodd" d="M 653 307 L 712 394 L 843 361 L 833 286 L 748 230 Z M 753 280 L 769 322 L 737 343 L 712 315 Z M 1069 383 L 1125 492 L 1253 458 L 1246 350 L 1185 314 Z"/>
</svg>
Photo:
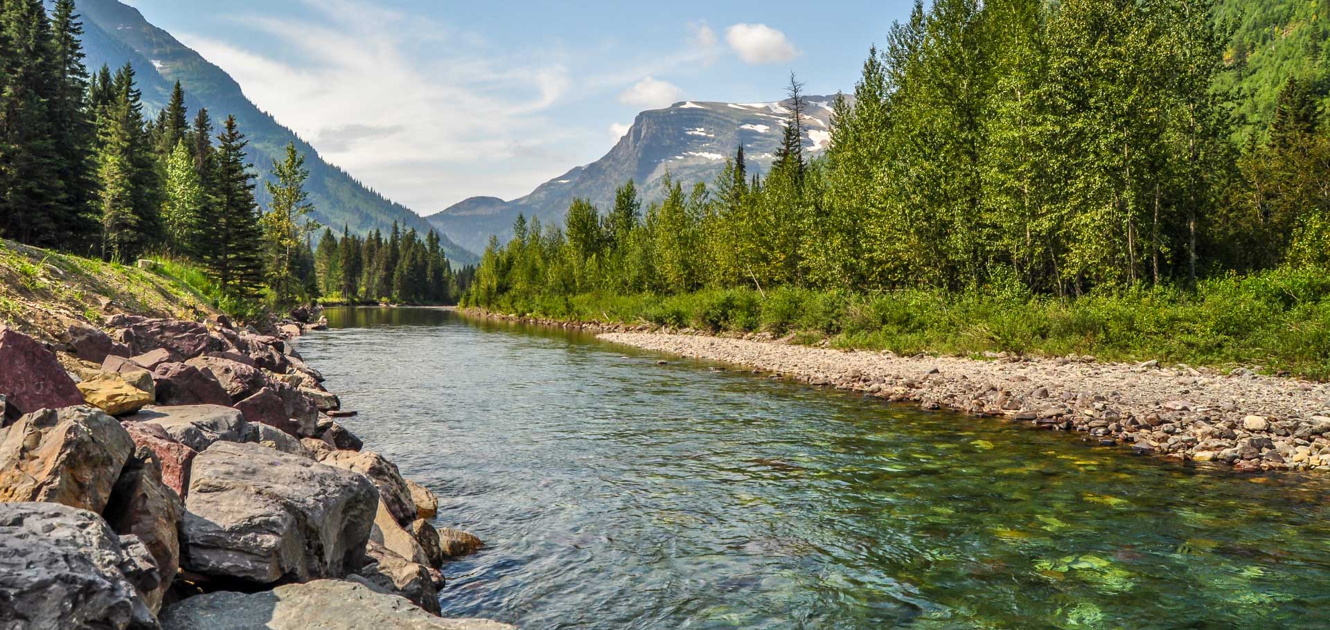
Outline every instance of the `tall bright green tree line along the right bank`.
<svg viewBox="0 0 1330 630">
<path fill-rule="evenodd" d="M 872 48 L 831 144 L 806 154 L 791 77 L 763 175 L 633 182 L 564 226 L 519 218 L 468 300 L 777 286 L 1076 296 L 1330 263 L 1330 128 L 1290 77 L 1234 142 L 1214 0 L 916 3 Z M 1232 57 L 1232 56 L 1230 56 Z M 1318 92 L 1319 90 L 1319 92 Z M 1262 130 L 1265 132 L 1265 130 Z"/>
</svg>

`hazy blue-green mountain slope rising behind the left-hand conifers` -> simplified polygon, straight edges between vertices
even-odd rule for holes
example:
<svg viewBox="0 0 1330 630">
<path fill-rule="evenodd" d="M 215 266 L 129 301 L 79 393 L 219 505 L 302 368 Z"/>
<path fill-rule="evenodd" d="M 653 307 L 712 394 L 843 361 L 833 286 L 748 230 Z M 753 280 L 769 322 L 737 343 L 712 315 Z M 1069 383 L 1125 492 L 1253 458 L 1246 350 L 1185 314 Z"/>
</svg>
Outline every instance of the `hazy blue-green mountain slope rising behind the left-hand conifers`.
<svg viewBox="0 0 1330 630">
<path fill-rule="evenodd" d="M 305 166 L 310 170 L 306 187 L 314 203 L 314 218 L 319 223 L 336 231 L 346 225 L 358 234 L 375 229 L 386 233 L 394 221 L 404 230 L 430 230 L 430 223 L 420 215 L 327 163 L 295 132 L 250 102 L 230 74 L 166 31 L 149 24 L 138 9 L 116 0 L 77 0 L 77 5 L 82 15 L 89 70 L 96 72 L 102 64 L 113 69 L 126 61 L 132 64 L 150 116 L 165 106 L 172 86 L 180 81 L 192 113 L 205 106 L 218 125 L 227 114 L 235 116 L 241 132 L 249 137 L 249 157 L 261 177 L 267 177 L 273 159 L 282 158 L 286 145 L 295 142 L 295 148 L 306 156 Z M 259 186 L 259 203 L 267 202 L 266 194 Z M 443 239 L 443 249 L 454 262 L 471 263 L 477 259 L 447 237 Z"/>
</svg>

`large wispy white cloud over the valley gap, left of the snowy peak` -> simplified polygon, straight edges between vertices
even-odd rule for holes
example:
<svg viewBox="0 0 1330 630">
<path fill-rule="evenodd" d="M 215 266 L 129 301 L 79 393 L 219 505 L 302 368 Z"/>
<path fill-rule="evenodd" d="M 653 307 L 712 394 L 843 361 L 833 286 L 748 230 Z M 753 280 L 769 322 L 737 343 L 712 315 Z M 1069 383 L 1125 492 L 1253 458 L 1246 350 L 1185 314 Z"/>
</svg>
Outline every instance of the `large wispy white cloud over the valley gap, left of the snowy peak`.
<svg viewBox="0 0 1330 630">
<path fill-rule="evenodd" d="M 285 41 L 282 57 L 177 35 L 326 159 L 419 213 L 454 197 L 520 197 L 575 159 L 565 145 L 576 130 L 549 114 L 573 86 L 557 54 L 507 53 L 359 0 L 303 4 L 298 20 L 241 21 Z"/>
</svg>

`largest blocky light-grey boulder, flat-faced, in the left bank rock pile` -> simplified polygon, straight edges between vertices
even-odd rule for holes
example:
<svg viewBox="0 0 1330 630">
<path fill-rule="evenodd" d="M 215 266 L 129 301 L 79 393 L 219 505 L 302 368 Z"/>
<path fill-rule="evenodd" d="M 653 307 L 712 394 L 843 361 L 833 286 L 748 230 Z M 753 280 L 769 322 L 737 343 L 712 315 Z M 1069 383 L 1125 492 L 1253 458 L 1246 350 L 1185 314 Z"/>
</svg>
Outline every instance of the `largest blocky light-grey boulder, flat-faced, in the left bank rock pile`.
<svg viewBox="0 0 1330 630">
<path fill-rule="evenodd" d="M 255 586 L 343 577 L 363 564 L 376 505 L 362 474 L 258 444 L 217 443 L 190 471 L 181 565 Z"/>
</svg>

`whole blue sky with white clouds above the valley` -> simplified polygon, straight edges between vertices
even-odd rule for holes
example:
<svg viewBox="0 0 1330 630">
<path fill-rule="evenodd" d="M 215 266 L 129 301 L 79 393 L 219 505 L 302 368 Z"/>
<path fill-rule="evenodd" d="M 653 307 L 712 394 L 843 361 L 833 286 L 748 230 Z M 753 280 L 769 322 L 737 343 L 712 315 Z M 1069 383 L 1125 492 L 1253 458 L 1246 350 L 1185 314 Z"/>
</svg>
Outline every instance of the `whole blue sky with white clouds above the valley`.
<svg viewBox="0 0 1330 630">
<path fill-rule="evenodd" d="M 645 109 L 851 92 L 912 0 L 125 0 L 420 214 L 513 199 Z M 225 11 L 218 7 L 225 5 Z"/>
</svg>

